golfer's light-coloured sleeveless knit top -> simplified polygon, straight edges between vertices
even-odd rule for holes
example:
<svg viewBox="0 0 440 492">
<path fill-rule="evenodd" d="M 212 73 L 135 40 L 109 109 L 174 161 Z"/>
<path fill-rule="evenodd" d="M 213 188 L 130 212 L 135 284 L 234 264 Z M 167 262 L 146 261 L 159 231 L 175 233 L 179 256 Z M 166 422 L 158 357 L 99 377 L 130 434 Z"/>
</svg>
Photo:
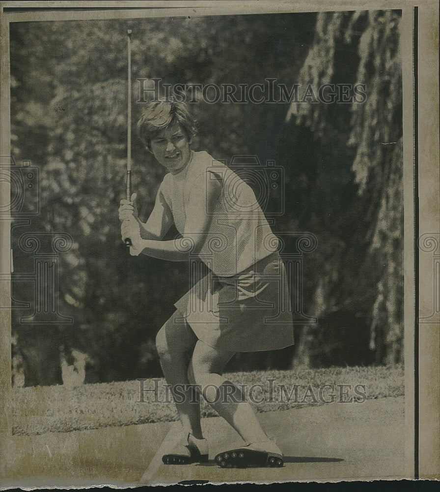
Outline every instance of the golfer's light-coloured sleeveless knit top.
<svg viewBox="0 0 440 492">
<path fill-rule="evenodd" d="M 209 180 L 220 183 L 221 193 L 208 212 L 206 200 L 201 197 L 207 196 Z M 204 207 L 204 213 L 210 215 L 196 256 L 219 277 L 237 275 L 277 250 L 278 240 L 250 186 L 205 151 L 193 152 L 190 162 L 179 173 L 166 174 L 159 194 L 170 208 L 181 235 L 186 230 L 186 237 L 196 239 L 191 216 L 187 216 L 190 200 L 198 200 L 195 205 Z"/>
</svg>

